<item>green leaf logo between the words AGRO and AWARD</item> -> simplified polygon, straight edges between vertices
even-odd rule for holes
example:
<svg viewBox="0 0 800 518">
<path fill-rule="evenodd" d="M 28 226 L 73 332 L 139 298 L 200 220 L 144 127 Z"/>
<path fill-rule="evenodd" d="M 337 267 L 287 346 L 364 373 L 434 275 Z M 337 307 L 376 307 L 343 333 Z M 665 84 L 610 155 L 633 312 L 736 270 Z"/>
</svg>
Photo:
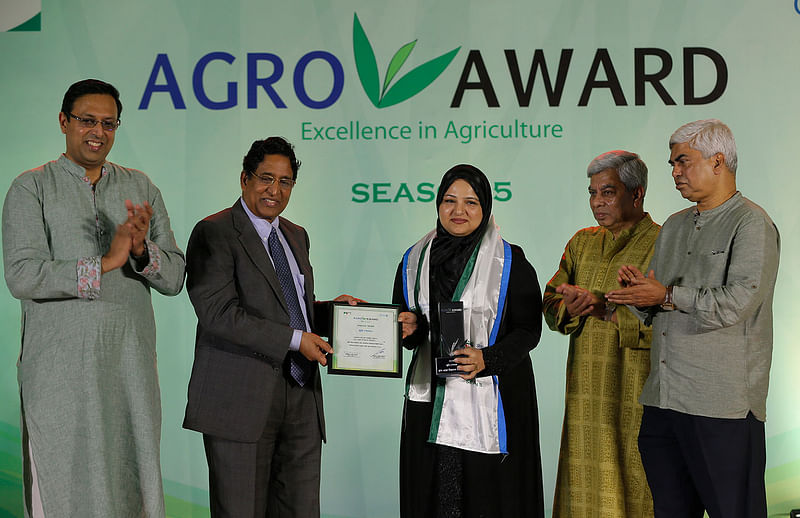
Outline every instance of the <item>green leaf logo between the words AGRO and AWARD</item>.
<svg viewBox="0 0 800 518">
<path fill-rule="evenodd" d="M 375 52 L 372 50 L 372 45 L 364 32 L 364 28 L 361 26 L 361 22 L 358 20 L 358 15 L 353 15 L 353 55 L 356 60 L 358 78 L 361 80 L 364 93 L 367 94 L 367 97 L 376 108 L 394 106 L 420 93 L 444 72 L 444 69 L 447 68 L 458 51 L 461 50 L 461 47 L 456 47 L 438 58 L 423 63 L 392 84 L 392 80 L 397 76 L 416 44 L 417 40 L 406 43 L 395 52 L 389 62 L 389 67 L 386 69 L 386 76 L 381 86 Z"/>
</svg>

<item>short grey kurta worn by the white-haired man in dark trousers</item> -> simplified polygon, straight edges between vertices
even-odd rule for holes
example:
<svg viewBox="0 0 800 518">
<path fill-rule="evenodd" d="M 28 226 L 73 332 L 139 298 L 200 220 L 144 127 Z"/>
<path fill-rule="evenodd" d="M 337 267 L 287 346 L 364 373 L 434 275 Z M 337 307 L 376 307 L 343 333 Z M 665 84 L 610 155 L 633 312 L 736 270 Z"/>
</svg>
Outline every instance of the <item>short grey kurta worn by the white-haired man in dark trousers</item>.
<svg viewBox="0 0 800 518">
<path fill-rule="evenodd" d="M 650 376 L 639 402 L 685 414 L 764 421 L 780 236 L 740 192 L 664 223 L 648 270 L 673 286 L 675 311 L 649 308 Z"/>
</svg>

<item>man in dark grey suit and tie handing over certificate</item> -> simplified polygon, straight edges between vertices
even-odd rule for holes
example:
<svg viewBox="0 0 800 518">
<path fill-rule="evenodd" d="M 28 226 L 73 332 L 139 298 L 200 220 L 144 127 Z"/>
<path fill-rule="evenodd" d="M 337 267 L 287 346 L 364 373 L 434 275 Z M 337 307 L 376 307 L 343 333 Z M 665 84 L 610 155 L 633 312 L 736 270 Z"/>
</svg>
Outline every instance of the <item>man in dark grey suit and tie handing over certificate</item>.
<svg viewBox="0 0 800 518">
<path fill-rule="evenodd" d="M 327 319 L 314 302 L 308 234 L 279 217 L 300 161 L 270 137 L 242 165 L 242 197 L 189 239 L 197 336 L 183 425 L 203 433 L 211 516 L 319 516 L 318 364 L 331 347 L 312 332 Z"/>
</svg>

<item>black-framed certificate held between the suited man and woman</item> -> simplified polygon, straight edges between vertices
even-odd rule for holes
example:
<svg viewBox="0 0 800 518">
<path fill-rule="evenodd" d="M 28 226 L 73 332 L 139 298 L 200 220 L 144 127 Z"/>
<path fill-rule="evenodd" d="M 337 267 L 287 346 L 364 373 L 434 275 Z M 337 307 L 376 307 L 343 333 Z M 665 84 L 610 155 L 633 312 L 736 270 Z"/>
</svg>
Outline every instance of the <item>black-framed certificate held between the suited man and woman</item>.
<svg viewBox="0 0 800 518">
<path fill-rule="evenodd" d="M 402 377 L 403 347 L 397 304 L 334 302 L 328 374 Z"/>
</svg>

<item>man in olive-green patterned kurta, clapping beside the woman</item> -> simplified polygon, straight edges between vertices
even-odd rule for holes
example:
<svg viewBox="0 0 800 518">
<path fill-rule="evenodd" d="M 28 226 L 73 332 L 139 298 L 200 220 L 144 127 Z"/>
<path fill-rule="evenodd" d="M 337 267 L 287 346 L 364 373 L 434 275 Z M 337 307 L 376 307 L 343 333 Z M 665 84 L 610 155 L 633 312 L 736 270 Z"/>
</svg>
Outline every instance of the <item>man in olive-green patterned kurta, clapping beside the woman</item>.
<svg viewBox="0 0 800 518">
<path fill-rule="evenodd" d="M 652 517 L 636 442 L 651 330 L 603 295 L 619 287 L 620 266 L 647 266 L 660 227 L 644 212 L 647 167 L 637 155 L 600 155 L 588 176 L 600 226 L 570 239 L 544 295 L 547 325 L 570 335 L 553 518 Z"/>
</svg>

